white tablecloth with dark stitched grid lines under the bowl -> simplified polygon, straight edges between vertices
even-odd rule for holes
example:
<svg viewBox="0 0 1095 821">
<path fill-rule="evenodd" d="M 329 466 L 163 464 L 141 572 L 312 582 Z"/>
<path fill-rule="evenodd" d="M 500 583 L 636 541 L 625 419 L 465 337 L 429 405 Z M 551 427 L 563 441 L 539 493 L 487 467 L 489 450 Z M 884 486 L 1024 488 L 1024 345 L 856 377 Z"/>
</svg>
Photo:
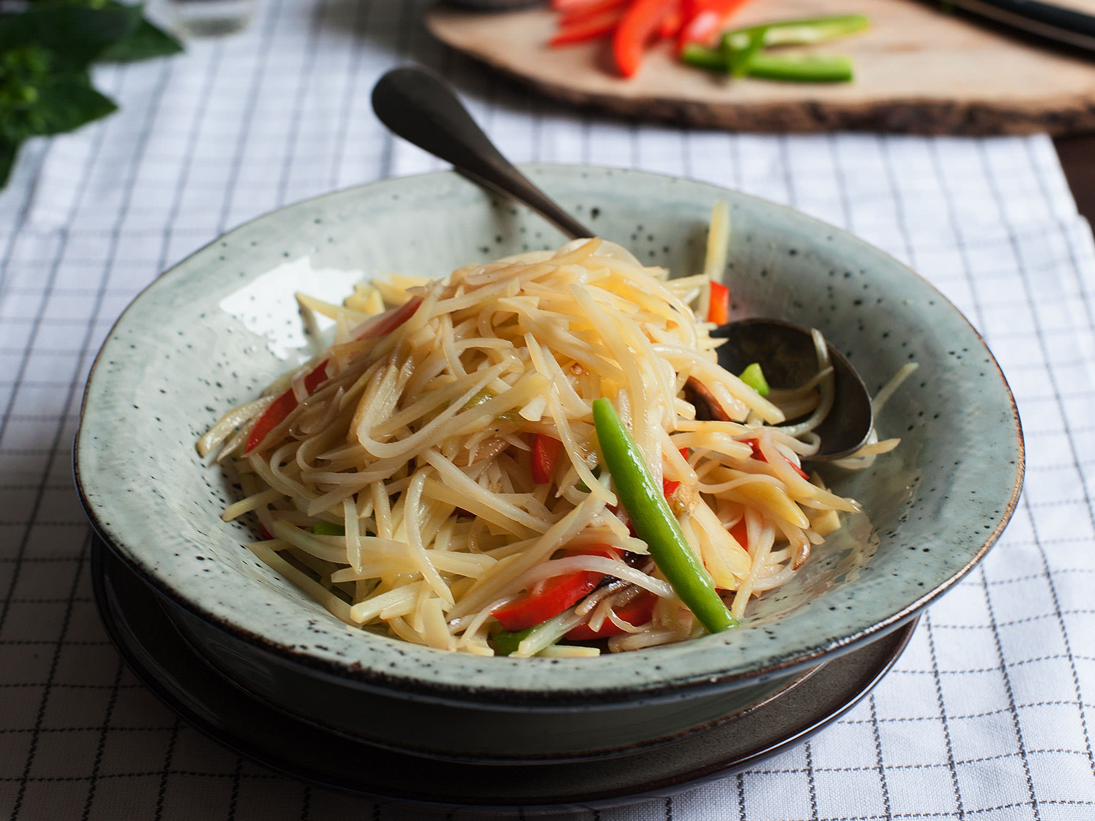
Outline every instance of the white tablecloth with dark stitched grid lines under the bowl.
<svg viewBox="0 0 1095 821">
<path fill-rule="evenodd" d="M 417 60 L 453 78 L 518 162 L 710 181 L 910 263 L 986 336 L 1026 426 L 1011 527 L 860 706 L 740 775 L 574 818 L 1095 818 L 1095 246 L 1050 141 L 731 135 L 576 113 L 442 49 L 422 8 L 269 0 L 240 35 L 104 68 L 122 112 L 27 146 L 0 194 L 0 814 L 427 817 L 272 774 L 161 706 L 99 624 L 70 467 L 95 351 L 160 271 L 283 204 L 439 167 L 369 107 L 380 73 Z"/>
</svg>

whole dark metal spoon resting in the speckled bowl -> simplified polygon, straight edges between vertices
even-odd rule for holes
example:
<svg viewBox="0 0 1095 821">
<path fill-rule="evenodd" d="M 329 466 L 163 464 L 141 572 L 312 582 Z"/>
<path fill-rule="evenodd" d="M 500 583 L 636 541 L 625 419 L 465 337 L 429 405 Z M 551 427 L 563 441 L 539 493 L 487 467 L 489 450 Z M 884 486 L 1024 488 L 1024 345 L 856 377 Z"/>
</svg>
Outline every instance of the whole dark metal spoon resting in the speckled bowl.
<svg viewBox="0 0 1095 821">
<path fill-rule="evenodd" d="M 389 71 L 372 89 L 372 111 L 393 134 L 451 162 L 469 180 L 512 197 L 567 236 L 597 235 L 514 167 L 475 124 L 452 88 L 433 71 L 412 66 Z M 727 338 L 718 348 L 718 362 L 733 373 L 759 362 L 769 384 L 781 388 L 795 388 L 817 373 L 810 332 L 800 325 L 749 319 L 723 325 L 712 336 Z M 840 351 L 828 347 L 835 398 L 817 428 L 820 450 L 804 456 L 815 462 L 851 455 L 866 442 L 874 426 L 866 385 Z"/>
</svg>

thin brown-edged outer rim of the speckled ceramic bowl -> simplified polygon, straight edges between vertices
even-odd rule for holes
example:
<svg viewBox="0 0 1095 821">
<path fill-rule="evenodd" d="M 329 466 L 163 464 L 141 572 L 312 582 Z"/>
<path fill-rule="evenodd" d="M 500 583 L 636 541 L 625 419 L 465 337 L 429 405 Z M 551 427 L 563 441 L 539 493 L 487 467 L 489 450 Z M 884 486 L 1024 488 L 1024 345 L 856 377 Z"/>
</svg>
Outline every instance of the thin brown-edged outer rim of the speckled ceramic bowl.
<svg viewBox="0 0 1095 821">
<path fill-rule="evenodd" d="M 712 183 L 706 183 L 703 181 L 691 180 L 688 177 L 673 176 L 669 174 L 660 174 L 656 172 L 648 172 L 642 170 L 632 169 L 621 169 L 612 166 L 598 166 L 598 165 L 586 165 L 586 164 L 574 164 L 574 163 L 523 163 L 520 167 L 530 175 L 535 175 L 538 172 L 551 172 L 551 171 L 563 171 L 564 173 L 576 173 L 581 172 L 601 172 L 608 176 L 620 174 L 620 175 L 634 175 L 643 176 L 655 180 L 660 180 L 667 183 L 687 183 L 688 185 L 698 186 L 699 188 L 705 188 L 712 193 L 721 193 L 723 195 L 729 194 L 735 198 L 744 200 L 753 200 L 761 204 L 765 208 L 776 209 L 792 216 L 792 218 L 799 220 L 800 223 L 808 224 L 812 223 L 814 227 L 823 227 L 830 233 L 837 233 L 842 235 L 845 240 L 853 242 L 862 248 L 869 250 L 872 253 L 878 254 L 886 258 L 886 261 L 892 265 L 897 266 L 902 270 L 902 275 L 906 277 L 911 276 L 918 280 L 923 287 L 930 289 L 935 299 L 942 301 L 942 303 L 949 308 L 954 312 L 954 315 L 961 319 L 968 329 L 973 334 L 978 343 L 982 346 L 983 352 L 988 357 L 989 363 L 996 377 L 999 377 L 1000 384 L 1003 386 L 1006 394 L 1011 419 L 1014 428 L 1015 436 L 1015 447 L 1016 447 L 1016 461 L 1015 461 L 1015 479 L 1012 484 L 1011 495 L 999 513 L 999 519 L 991 531 L 984 534 L 983 541 L 978 546 L 976 551 L 972 552 L 969 559 L 953 571 L 947 578 L 942 582 L 934 586 L 932 589 L 927 590 L 920 597 L 915 598 L 912 602 L 899 609 L 897 612 L 890 614 L 884 618 L 877 618 L 873 623 L 863 626 L 858 629 L 846 632 L 838 638 L 831 639 L 827 645 L 816 645 L 800 649 L 793 655 L 786 655 L 781 657 L 774 662 L 769 662 L 763 666 L 751 667 L 739 672 L 724 672 L 724 673 L 713 673 L 702 677 L 662 677 L 661 680 L 656 684 L 650 684 L 648 681 L 633 683 L 633 686 L 613 686 L 613 687 L 572 687 L 566 690 L 533 690 L 533 689 L 519 689 L 505 684 L 471 684 L 468 682 L 461 683 L 449 683 L 449 682 L 438 682 L 428 681 L 423 678 L 414 678 L 406 674 L 390 674 L 378 668 L 369 668 L 364 664 L 353 662 L 336 662 L 332 660 L 324 659 L 322 657 L 315 656 L 308 650 L 298 649 L 295 646 L 286 646 L 278 641 L 272 640 L 268 637 L 262 635 L 261 633 L 255 633 L 241 625 L 232 623 L 229 618 L 222 617 L 211 610 L 203 606 L 197 601 L 185 595 L 180 590 L 176 590 L 168 580 L 160 578 L 157 574 L 151 573 L 146 567 L 142 567 L 134 557 L 127 554 L 120 541 L 116 542 L 112 533 L 104 524 L 103 520 L 100 519 L 95 506 L 91 504 L 88 492 L 85 488 L 84 477 L 81 475 L 80 465 L 80 452 L 81 452 L 81 441 L 82 435 L 84 432 L 84 416 L 87 412 L 87 406 L 89 402 L 89 396 L 92 392 L 92 384 L 99 370 L 101 360 L 103 359 L 104 352 L 110 346 L 111 339 L 114 336 L 115 331 L 124 323 L 130 311 L 134 310 L 135 305 L 140 302 L 141 298 L 145 297 L 149 291 L 160 287 L 161 282 L 164 281 L 165 277 L 176 275 L 181 269 L 185 269 L 188 263 L 195 258 L 207 253 L 210 248 L 216 246 L 218 243 L 223 242 L 228 238 L 240 234 L 252 229 L 257 223 L 263 222 L 269 217 L 278 213 L 284 213 L 296 208 L 304 208 L 310 205 L 321 204 L 324 200 L 334 199 L 337 197 L 343 197 L 351 195 L 358 192 L 368 192 L 370 189 L 382 189 L 389 186 L 399 186 L 401 183 L 413 183 L 434 180 L 448 180 L 453 177 L 459 177 L 454 171 L 435 171 L 427 172 L 423 174 L 414 174 L 400 177 L 387 177 L 384 180 L 378 180 L 370 183 L 365 183 L 361 185 L 349 186 L 347 188 L 342 188 L 334 192 L 324 193 L 314 197 L 309 197 L 307 199 L 298 200 L 269 211 L 266 211 L 257 217 L 254 217 L 246 222 L 233 228 L 232 230 L 212 239 L 205 245 L 195 250 L 193 253 L 188 254 L 183 259 L 175 263 L 171 268 L 163 271 L 155 279 L 149 282 L 145 288 L 142 288 L 139 293 L 134 298 L 134 300 L 126 307 L 126 309 L 119 314 L 118 319 L 111 326 L 110 332 L 106 334 L 103 346 L 100 348 L 95 358 L 92 362 L 92 367 L 89 371 L 89 377 L 84 385 L 84 390 L 81 397 L 80 404 L 80 426 L 77 430 L 72 460 L 73 460 L 73 474 L 76 479 L 77 490 L 79 493 L 80 502 L 83 507 L 84 513 L 87 514 L 92 528 L 95 530 L 96 534 L 102 539 L 104 544 L 106 544 L 111 552 L 118 557 L 129 569 L 131 569 L 140 579 L 142 579 L 147 585 L 149 585 L 157 594 L 170 600 L 171 602 L 182 606 L 184 610 L 198 616 L 204 622 L 210 624 L 211 626 L 227 632 L 228 634 L 243 639 L 247 645 L 254 647 L 261 654 L 269 654 L 277 657 L 283 662 L 289 662 L 295 666 L 300 666 L 313 674 L 319 674 L 324 678 L 334 678 L 338 681 L 344 682 L 348 686 L 359 687 L 364 690 L 377 690 L 385 694 L 391 695 L 393 692 L 403 693 L 408 698 L 416 701 L 430 701 L 443 704 L 461 704 L 474 702 L 482 706 L 488 706 L 497 708 L 500 710 L 521 710 L 521 709 L 580 709 L 585 707 L 595 707 L 596 705 L 604 704 L 619 704 L 622 702 L 630 701 L 644 701 L 644 702 L 660 702 L 666 699 L 676 699 L 682 697 L 690 697 L 692 695 L 702 695 L 710 692 L 725 691 L 736 689 L 738 686 L 747 686 L 750 683 L 756 683 L 763 681 L 773 677 L 786 675 L 807 667 L 815 666 L 819 660 L 823 658 L 834 658 L 839 655 L 843 655 L 850 650 L 863 646 L 866 643 L 878 639 L 891 631 L 900 627 L 910 620 L 912 620 L 921 610 L 931 604 L 933 601 L 938 599 L 945 592 L 947 592 L 952 587 L 957 585 L 988 553 L 988 551 L 996 543 L 1000 535 L 1003 533 L 1004 529 L 1008 524 L 1015 508 L 1018 502 L 1019 494 L 1023 489 L 1023 483 L 1025 477 L 1025 442 L 1023 437 L 1022 420 L 1018 414 L 1018 408 L 1015 403 L 1014 394 L 1012 393 L 1011 386 L 1007 379 L 996 361 L 995 356 L 992 354 L 991 349 L 984 342 L 981 334 L 973 327 L 972 323 L 966 317 L 966 315 L 958 310 L 958 308 L 945 296 L 943 294 L 931 281 L 925 277 L 918 274 L 910 266 L 902 263 L 900 259 L 896 258 L 888 252 L 879 248 L 866 240 L 852 234 L 851 232 L 832 226 L 823 220 L 816 217 L 807 215 L 799 211 L 791 206 L 783 205 L 781 203 L 775 203 L 773 200 L 765 199 L 763 197 L 747 194 L 745 192 L 736 190 L 733 188 L 726 188 L 723 186 L 714 185 Z M 489 195 L 489 193 L 488 193 Z M 183 271 L 185 274 L 185 270 Z M 182 276 L 183 274 L 177 274 Z M 980 352 L 980 351 L 979 351 Z M 874 528 L 873 528 L 874 530 Z M 242 576 L 241 576 L 242 577 Z M 333 616 L 332 616 L 333 617 Z M 401 643 L 402 646 L 402 643 Z M 447 654 L 443 651 L 433 650 L 431 648 L 423 648 L 411 643 L 406 643 L 408 648 L 413 648 L 412 651 L 427 651 L 431 654 L 442 654 L 442 656 L 458 656 L 458 654 Z M 641 658 L 642 651 L 633 651 L 634 658 L 636 660 Z M 623 654 L 624 656 L 632 656 L 633 654 Z M 436 659 L 437 656 L 431 658 Z M 528 661 L 528 660 L 522 660 Z M 590 660 L 596 663 L 596 660 Z"/>
</svg>

